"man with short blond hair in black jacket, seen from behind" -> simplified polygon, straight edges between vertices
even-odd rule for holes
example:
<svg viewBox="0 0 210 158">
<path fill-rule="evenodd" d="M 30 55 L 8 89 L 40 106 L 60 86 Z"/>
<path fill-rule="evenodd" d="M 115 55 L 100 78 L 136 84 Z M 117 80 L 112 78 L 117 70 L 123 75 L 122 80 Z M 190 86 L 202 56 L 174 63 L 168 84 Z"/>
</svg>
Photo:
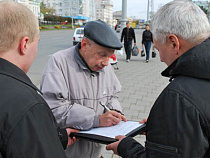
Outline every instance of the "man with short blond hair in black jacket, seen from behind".
<svg viewBox="0 0 210 158">
<path fill-rule="evenodd" d="M 57 127 L 26 75 L 37 53 L 38 21 L 23 5 L 0 2 L 0 28 L 0 157 L 65 158 L 64 148 L 75 142 L 68 135 L 77 130 Z"/>
</svg>

